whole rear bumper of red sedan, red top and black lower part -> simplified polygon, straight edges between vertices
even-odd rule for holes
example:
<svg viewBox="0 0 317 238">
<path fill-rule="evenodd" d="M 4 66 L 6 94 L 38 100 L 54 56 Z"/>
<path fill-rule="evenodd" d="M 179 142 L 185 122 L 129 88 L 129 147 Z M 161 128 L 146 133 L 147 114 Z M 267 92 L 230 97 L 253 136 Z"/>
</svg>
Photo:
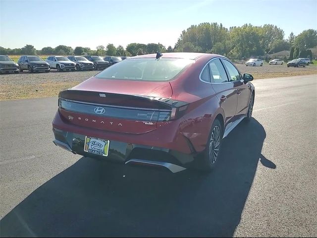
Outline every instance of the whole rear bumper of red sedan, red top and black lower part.
<svg viewBox="0 0 317 238">
<path fill-rule="evenodd" d="M 169 134 L 166 131 L 169 131 Z M 62 142 L 60 147 L 72 153 L 105 159 L 104 156 L 84 151 L 85 136 L 93 136 L 110 141 L 106 157 L 109 161 L 126 163 L 131 159 L 153 160 L 190 168 L 200 153 L 193 151 L 190 140 L 177 131 L 177 128 L 169 127 L 143 134 L 118 133 L 68 123 L 58 112 L 53 120 L 55 140 Z"/>
</svg>

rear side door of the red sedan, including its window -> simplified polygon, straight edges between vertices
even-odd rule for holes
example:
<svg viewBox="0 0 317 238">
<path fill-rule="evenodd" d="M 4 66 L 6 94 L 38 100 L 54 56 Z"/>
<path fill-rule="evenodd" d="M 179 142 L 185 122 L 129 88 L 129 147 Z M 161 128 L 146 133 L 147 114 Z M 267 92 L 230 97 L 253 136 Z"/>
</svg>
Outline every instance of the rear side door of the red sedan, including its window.
<svg viewBox="0 0 317 238">
<path fill-rule="evenodd" d="M 229 82 L 220 59 L 211 60 L 208 66 L 212 88 L 216 92 L 216 96 L 220 100 L 220 107 L 224 111 L 225 126 L 230 125 L 237 109 L 237 93 L 234 88 L 234 83 Z"/>
</svg>

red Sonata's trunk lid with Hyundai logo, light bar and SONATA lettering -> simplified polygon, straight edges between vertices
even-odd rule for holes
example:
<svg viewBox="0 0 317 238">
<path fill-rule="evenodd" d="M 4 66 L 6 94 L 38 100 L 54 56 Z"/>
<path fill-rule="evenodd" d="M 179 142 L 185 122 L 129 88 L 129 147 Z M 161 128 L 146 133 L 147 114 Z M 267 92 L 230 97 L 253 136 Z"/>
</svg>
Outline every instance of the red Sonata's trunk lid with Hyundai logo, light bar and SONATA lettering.
<svg viewBox="0 0 317 238">
<path fill-rule="evenodd" d="M 59 113 L 69 123 L 123 133 L 146 133 L 170 118 L 169 82 L 90 78 L 60 92 Z"/>
</svg>

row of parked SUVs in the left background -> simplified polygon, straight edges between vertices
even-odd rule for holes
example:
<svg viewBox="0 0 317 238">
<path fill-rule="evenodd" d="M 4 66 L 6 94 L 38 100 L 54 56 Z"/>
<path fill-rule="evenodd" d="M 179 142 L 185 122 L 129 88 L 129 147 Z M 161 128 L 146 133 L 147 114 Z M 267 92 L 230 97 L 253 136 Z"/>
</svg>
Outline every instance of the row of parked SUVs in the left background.
<svg viewBox="0 0 317 238">
<path fill-rule="evenodd" d="M 106 56 L 49 56 L 43 60 L 38 56 L 21 56 L 17 63 L 8 56 L 0 56 L 0 72 L 19 73 L 28 70 L 50 72 L 51 69 L 58 71 L 71 70 L 96 70 L 105 69 L 110 65 L 125 60 L 128 57 Z"/>
</svg>

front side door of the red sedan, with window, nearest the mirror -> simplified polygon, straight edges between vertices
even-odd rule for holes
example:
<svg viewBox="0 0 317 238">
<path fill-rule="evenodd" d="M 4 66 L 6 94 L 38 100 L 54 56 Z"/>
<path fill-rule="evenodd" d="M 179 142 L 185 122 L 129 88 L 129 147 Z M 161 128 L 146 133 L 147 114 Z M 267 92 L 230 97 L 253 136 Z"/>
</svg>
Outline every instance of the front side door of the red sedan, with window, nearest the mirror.
<svg viewBox="0 0 317 238">
<path fill-rule="evenodd" d="M 242 75 L 239 70 L 229 61 L 222 59 L 226 72 L 229 77 L 229 81 L 233 83 L 233 87 L 237 94 L 237 110 L 235 113 L 235 119 L 239 119 L 247 114 L 250 99 L 250 85 L 244 83 Z"/>
</svg>

